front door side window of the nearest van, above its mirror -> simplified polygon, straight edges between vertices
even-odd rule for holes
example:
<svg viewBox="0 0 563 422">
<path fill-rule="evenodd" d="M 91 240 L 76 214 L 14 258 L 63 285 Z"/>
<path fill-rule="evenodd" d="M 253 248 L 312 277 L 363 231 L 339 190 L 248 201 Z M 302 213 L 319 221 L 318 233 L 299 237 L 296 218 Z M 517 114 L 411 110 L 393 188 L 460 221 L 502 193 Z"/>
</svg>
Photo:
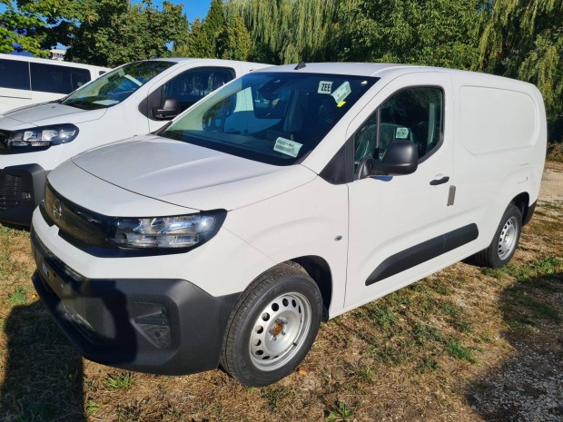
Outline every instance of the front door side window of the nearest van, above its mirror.
<svg viewBox="0 0 563 422">
<path fill-rule="evenodd" d="M 435 87 L 413 87 L 394 93 L 373 113 L 355 135 L 354 163 L 382 159 L 391 142 L 417 145 L 419 159 L 441 141 L 443 92 Z"/>
</svg>

